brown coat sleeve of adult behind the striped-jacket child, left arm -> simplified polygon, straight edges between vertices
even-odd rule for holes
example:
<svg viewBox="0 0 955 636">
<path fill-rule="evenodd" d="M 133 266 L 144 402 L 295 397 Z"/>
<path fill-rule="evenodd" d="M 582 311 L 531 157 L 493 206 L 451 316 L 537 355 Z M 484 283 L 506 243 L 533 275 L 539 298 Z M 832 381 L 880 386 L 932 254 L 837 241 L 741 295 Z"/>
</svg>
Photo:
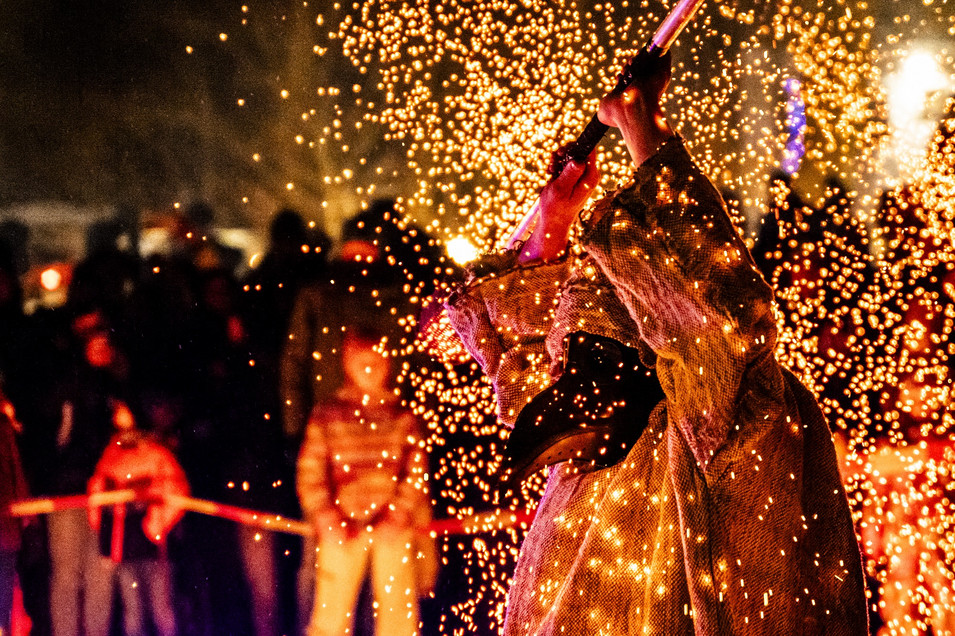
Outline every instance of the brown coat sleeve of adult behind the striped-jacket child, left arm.
<svg viewBox="0 0 955 636">
<path fill-rule="evenodd" d="M 311 409 L 311 391 L 309 387 L 311 355 L 311 337 L 316 329 L 316 307 L 318 298 L 303 289 L 295 299 L 292 316 L 289 319 L 288 334 L 282 350 L 281 382 L 282 426 L 285 436 L 297 439 L 305 430 L 308 413 Z"/>
</svg>

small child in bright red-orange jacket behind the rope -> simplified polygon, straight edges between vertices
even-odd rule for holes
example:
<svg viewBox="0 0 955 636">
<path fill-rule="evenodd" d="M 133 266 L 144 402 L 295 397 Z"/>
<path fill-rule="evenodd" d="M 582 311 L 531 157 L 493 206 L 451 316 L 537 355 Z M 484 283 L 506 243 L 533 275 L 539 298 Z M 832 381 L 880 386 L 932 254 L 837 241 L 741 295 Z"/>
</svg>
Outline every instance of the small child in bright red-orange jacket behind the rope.
<svg viewBox="0 0 955 636">
<path fill-rule="evenodd" d="M 172 452 L 136 428 L 133 414 L 125 404 L 115 406 L 113 425 L 116 433 L 96 465 L 89 481 L 89 494 L 134 488 L 145 493 L 147 503 L 126 507 L 123 554 L 118 564 L 109 555 L 112 525 L 120 521 L 109 514 L 109 508 L 89 509 L 90 526 L 100 535 L 100 567 L 115 568 L 127 636 L 150 633 L 147 612 L 158 636 L 174 636 L 176 614 L 166 537 L 182 518 L 183 510 L 163 497 L 188 495 L 189 485 Z M 110 608 L 103 610 L 108 613 Z"/>
</svg>

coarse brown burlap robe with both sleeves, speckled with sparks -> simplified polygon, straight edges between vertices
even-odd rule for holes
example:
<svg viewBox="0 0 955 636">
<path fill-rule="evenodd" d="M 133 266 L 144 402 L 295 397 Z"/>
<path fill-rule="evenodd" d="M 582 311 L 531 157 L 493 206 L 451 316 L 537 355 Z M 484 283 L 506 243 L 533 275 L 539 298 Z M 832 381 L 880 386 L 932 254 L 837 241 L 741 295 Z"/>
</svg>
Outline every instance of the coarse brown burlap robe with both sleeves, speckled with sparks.
<svg viewBox="0 0 955 636">
<path fill-rule="evenodd" d="M 551 468 L 504 634 L 867 633 L 829 429 L 776 362 L 772 290 L 679 138 L 596 206 L 580 244 L 568 278 L 516 267 L 449 303 L 505 422 L 581 327 L 652 350 L 666 395 L 622 463 Z"/>
</svg>

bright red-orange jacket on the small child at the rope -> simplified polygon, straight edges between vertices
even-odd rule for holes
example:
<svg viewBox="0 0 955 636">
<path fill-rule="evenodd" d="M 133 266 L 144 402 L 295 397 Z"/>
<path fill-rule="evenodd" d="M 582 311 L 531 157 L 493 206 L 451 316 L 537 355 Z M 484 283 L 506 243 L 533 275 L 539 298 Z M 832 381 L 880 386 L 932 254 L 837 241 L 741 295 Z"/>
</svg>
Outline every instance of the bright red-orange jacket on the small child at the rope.
<svg viewBox="0 0 955 636">
<path fill-rule="evenodd" d="M 140 431 L 117 433 L 96 464 L 87 491 L 92 495 L 123 488 L 142 488 L 154 500 L 146 508 L 143 532 L 162 545 L 184 513 L 181 507 L 163 501 L 162 497 L 189 494 L 186 474 L 176 457 Z M 90 508 L 88 514 L 90 526 L 99 531 L 100 508 Z"/>
</svg>

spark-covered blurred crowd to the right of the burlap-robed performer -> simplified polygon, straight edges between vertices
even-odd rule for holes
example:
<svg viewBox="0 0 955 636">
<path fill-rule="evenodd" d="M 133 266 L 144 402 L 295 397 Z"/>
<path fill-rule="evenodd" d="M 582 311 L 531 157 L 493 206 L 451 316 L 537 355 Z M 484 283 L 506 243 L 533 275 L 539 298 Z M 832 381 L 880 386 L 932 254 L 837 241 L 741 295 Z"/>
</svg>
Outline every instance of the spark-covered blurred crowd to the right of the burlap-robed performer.
<svg viewBox="0 0 955 636">
<path fill-rule="evenodd" d="M 834 434 L 872 633 L 955 633 L 955 98 L 914 178 L 875 205 L 836 178 L 815 205 L 785 174 L 769 189 L 753 255 L 776 290 L 779 355 Z"/>
</svg>

